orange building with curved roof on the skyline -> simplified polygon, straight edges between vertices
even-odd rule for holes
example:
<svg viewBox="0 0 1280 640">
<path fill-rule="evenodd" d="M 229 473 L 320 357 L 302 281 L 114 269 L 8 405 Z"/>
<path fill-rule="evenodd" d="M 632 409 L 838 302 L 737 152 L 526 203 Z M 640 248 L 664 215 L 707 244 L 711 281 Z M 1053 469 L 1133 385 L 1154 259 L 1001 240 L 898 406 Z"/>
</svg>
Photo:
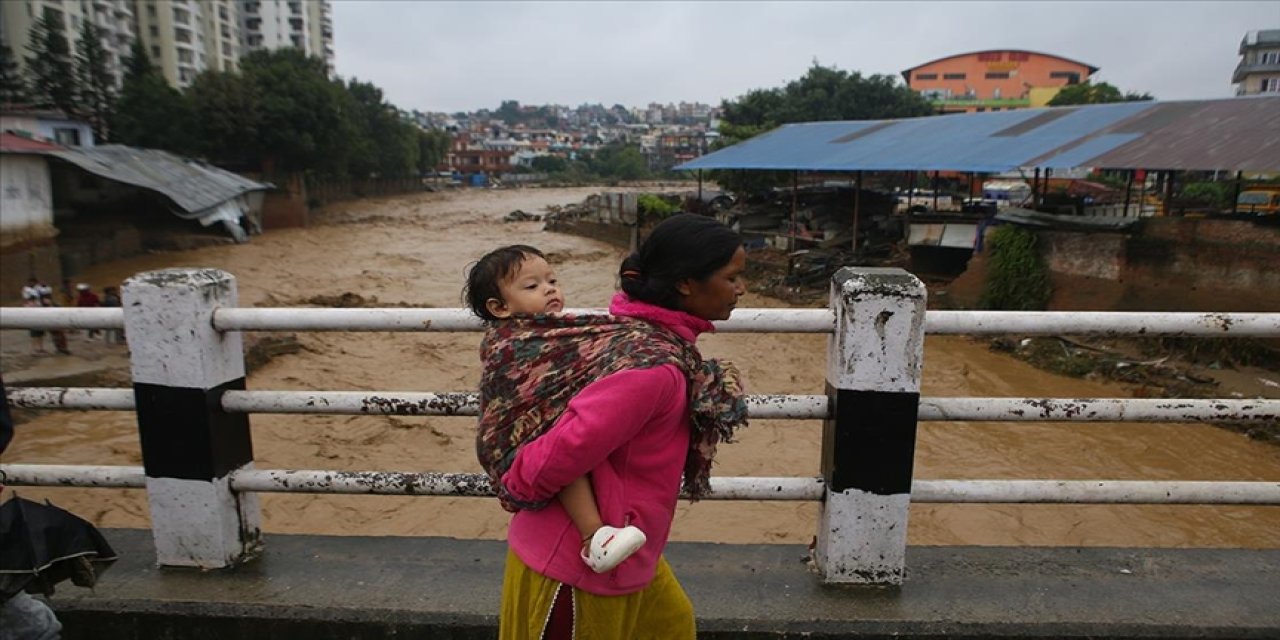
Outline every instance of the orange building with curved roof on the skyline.
<svg viewBox="0 0 1280 640">
<path fill-rule="evenodd" d="M 902 77 L 940 113 L 961 113 L 1044 106 L 1060 88 L 1097 72 L 1097 67 L 1057 55 L 992 49 L 940 58 L 906 69 Z"/>
</svg>

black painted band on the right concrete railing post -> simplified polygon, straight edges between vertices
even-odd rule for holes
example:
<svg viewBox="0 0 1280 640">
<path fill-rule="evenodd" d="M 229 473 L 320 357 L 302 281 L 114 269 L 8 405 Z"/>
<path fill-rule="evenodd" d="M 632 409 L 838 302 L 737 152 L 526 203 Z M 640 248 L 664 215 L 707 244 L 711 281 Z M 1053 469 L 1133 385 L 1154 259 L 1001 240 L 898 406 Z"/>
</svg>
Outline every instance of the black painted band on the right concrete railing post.
<svg viewBox="0 0 1280 640">
<path fill-rule="evenodd" d="M 920 394 L 833 389 L 835 417 L 823 421 L 822 476 L 832 492 L 911 492 Z"/>
</svg>

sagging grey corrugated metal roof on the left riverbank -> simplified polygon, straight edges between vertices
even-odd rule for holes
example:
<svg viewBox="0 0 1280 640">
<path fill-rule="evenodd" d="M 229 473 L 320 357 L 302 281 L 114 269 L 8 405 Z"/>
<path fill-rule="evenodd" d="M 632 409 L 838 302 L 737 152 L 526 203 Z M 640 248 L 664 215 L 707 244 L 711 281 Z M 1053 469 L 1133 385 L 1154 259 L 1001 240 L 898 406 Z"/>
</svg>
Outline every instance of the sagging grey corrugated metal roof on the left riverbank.
<svg viewBox="0 0 1280 640">
<path fill-rule="evenodd" d="M 157 191 L 191 214 L 183 218 L 196 218 L 242 193 L 273 188 L 271 184 L 156 148 L 104 145 L 49 151 L 45 155 L 102 178 Z"/>
</svg>

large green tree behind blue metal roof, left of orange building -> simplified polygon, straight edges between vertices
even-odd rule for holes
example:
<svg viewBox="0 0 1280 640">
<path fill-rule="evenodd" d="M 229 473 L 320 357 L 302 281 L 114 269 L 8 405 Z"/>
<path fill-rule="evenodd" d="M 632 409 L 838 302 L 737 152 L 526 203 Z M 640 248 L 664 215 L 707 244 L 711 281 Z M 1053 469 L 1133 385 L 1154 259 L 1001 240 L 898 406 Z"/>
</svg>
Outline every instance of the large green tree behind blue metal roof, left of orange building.
<svg viewBox="0 0 1280 640">
<path fill-rule="evenodd" d="M 893 76 L 863 76 L 814 61 L 783 87 L 753 90 L 721 104 L 721 142 L 736 145 L 781 124 L 823 120 L 916 118 L 933 113 L 928 100 Z M 712 179 L 737 193 L 755 193 L 782 183 L 780 172 L 712 172 Z"/>
</svg>

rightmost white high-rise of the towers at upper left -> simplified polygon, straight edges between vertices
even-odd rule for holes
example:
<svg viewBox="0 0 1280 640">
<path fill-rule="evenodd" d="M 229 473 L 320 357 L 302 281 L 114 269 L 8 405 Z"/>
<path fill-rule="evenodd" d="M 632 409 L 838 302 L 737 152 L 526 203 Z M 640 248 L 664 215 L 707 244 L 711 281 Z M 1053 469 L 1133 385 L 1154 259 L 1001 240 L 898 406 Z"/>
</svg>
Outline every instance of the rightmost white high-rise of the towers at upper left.
<svg viewBox="0 0 1280 640">
<path fill-rule="evenodd" d="M 333 8 L 329 0 L 238 0 L 244 51 L 301 49 L 333 74 Z"/>
</svg>

